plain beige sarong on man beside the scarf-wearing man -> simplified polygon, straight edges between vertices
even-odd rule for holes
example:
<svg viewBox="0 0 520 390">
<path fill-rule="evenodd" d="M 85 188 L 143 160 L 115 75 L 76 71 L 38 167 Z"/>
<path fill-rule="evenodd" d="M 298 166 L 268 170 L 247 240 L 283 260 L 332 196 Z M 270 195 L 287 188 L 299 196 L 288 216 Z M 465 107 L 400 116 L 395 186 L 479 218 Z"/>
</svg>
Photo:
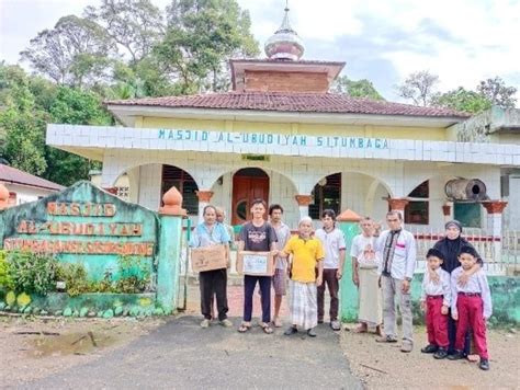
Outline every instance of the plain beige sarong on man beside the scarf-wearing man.
<svg viewBox="0 0 520 390">
<path fill-rule="evenodd" d="M 359 268 L 359 314 L 360 322 L 380 325 L 383 322 L 383 296 L 378 286 L 377 268 Z"/>
</svg>

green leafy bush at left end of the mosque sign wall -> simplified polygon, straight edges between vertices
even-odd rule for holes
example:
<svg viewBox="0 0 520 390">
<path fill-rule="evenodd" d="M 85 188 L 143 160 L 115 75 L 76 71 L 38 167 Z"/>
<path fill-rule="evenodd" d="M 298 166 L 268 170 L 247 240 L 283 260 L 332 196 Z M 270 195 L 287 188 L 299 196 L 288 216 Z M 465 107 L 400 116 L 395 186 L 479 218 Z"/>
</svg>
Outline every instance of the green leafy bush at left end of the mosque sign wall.
<svg viewBox="0 0 520 390">
<path fill-rule="evenodd" d="M 57 261 L 43 253 L 8 252 L 9 277 L 19 292 L 46 295 L 55 289 Z"/>
</svg>

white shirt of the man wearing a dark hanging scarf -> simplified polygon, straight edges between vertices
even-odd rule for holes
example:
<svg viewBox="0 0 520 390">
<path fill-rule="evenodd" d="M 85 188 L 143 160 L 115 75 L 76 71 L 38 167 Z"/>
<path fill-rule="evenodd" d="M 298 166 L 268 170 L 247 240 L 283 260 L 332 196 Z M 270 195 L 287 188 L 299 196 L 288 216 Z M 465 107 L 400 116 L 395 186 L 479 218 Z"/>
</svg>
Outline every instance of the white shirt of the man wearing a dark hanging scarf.
<svg viewBox="0 0 520 390">
<path fill-rule="evenodd" d="M 385 230 L 381 233 L 376 243 L 376 251 L 381 255 L 381 264 L 378 267 L 380 275 L 383 273 L 385 265 L 384 250 L 386 238 L 389 234 L 389 230 Z M 397 238 L 397 244 L 394 250 L 394 259 L 392 260 L 391 276 L 395 279 L 405 279 L 405 277 L 412 278 L 414 272 L 416 271 L 417 262 L 417 245 L 414 234 L 405 229 L 400 230 L 399 237 Z"/>
</svg>

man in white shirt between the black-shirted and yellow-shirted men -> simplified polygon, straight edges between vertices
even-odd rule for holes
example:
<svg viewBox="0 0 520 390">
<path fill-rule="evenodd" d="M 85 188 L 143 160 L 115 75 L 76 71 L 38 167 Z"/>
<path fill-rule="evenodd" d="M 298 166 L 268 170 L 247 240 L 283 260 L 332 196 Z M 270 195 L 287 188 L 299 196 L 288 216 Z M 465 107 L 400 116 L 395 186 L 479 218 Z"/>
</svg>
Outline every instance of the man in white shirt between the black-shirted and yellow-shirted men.
<svg viewBox="0 0 520 390">
<path fill-rule="evenodd" d="M 283 207 L 280 205 L 271 205 L 269 207 L 269 219 L 271 226 L 276 232 L 276 249 L 282 251 L 285 248 L 289 239 L 291 238 L 291 229 L 282 221 Z M 282 306 L 282 297 L 286 294 L 286 275 L 287 275 L 287 262 L 285 259 L 276 256 L 275 269 L 273 275 L 273 288 L 274 288 L 274 318 L 273 323 L 275 328 L 282 326 L 280 320 L 280 308 Z"/>
</svg>

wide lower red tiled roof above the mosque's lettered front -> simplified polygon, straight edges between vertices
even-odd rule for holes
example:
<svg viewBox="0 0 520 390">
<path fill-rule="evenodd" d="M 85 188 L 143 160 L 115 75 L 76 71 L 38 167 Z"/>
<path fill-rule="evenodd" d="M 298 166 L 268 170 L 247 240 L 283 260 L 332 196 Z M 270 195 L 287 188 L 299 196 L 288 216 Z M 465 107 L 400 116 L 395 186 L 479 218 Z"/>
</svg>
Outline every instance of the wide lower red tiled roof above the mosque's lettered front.
<svg viewBox="0 0 520 390">
<path fill-rule="evenodd" d="M 297 113 L 460 117 L 470 115 L 441 107 L 350 97 L 338 93 L 226 92 L 188 96 L 144 97 L 105 102 L 108 105 L 169 108 L 255 110 Z"/>
</svg>

